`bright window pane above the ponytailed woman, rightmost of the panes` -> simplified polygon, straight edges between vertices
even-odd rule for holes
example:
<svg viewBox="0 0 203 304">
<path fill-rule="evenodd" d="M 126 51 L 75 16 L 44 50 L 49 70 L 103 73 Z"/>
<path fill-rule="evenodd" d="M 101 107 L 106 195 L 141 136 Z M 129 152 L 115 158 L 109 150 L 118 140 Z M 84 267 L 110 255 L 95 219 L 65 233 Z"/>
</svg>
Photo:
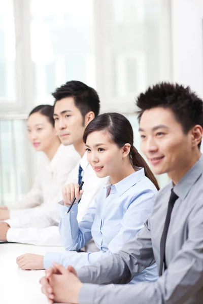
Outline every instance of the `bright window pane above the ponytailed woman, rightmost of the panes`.
<svg viewBox="0 0 203 304">
<path fill-rule="evenodd" d="M 134 97 L 160 81 L 160 0 L 111 0 L 114 97 Z"/>
</svg>

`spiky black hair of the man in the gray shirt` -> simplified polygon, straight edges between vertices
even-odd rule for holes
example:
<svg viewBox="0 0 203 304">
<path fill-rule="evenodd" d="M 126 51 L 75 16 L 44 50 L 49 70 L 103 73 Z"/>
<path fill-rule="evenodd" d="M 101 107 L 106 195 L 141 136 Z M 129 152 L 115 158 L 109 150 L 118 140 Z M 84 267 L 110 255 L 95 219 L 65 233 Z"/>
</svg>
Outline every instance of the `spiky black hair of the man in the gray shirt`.
<svg viewBox="0 0 203 304">
<path fill-rule="evenodd" d="M 145 93 L 141 93 L 136 100 L 136 105 L 140 108 L 137 111 L 139 122 L 145 110 L 164 107 L 174 112 L 185 134 L 195 125 L 203 128 L 203 102 L 196 93 L 190 90 L 190 87 L 162 82 L 149 87 Z"/>
</svg>

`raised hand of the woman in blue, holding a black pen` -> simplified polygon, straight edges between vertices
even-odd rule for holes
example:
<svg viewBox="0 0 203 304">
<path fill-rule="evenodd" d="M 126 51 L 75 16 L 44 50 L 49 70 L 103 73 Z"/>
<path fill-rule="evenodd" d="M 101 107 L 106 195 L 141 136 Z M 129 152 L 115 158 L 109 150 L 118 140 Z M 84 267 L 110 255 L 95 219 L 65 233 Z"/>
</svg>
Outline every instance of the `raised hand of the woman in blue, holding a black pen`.
<svg viewBox="0 0 203 304">
<path fill-rule="evenodd" d="M 62 197 L 65 206 L 70 206 L 74 197 L 76 197 L 75 203 L 77 203 L 83 194 L 83 190 L 79 193 L 79 184 L 68 184 L 62 187 Z"/>
</svg>

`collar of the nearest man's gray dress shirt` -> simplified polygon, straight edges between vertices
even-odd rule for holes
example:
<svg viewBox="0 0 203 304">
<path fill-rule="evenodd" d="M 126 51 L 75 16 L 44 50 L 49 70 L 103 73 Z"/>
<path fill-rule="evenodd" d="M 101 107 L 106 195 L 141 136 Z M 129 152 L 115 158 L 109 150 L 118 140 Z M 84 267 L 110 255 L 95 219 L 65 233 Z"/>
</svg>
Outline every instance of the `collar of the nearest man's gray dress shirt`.
<svg viewBox="0 0 203 304">
<path fill-rule="evenodd" d="M 203 155 L 200 156 L 198 161 L 192 168 L 181 178 L 181 180 L 174 186 L 175 194 L 184 200 L 189 193 L 191 187 L 203 172 Z M 171 182 L 172 187 L 173 183 Z"/>
</svg>

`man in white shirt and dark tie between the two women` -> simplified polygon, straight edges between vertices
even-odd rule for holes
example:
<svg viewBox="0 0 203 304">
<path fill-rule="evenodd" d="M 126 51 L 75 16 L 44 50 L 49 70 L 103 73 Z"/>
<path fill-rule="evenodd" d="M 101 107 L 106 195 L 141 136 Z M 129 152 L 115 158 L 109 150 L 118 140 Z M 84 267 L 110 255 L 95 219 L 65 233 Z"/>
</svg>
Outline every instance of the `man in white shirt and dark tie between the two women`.
<svg viewBox="0 0 203 304">
<path fill-rule="evenodd" d="M 80 203 L 78 219 L 80 220 L 87 210 L 88 205 L 93 200 L 103 180 L 96 177 L 93 169 L 88 166 L 85 156 L 85 144 L 83 143 L 83 132 L 88 123 L 99 113 L 99 97 L 96 91 L 82 82 L 70 81 L 57 88 L 52 94 L 55 98 L 54 120 L 55 129 L 63 145 L 74 145 L 74 148 L 82 157 L 78 164 L 69 174 L 66 183 L 76 183 L 80 174 L 83 174 L 85 180 L 83 190 L 84 195 Z M 82 170 L 81 170 L 82 168 Z M 82 171 L 82 172 L 81 172 Z M 54 198 L 52 204 L 52 214 L 58 218 L 52 225 L 44 224 L 44 218 L 47 218 L 47 210 L 44 216 L 41 216 L 40 223 L 33 223 L 26 228 L 20 223 L 13 226 L 12 221 L 0 223 L 0 240 L 9 242 L 27 243 L 44 246 L 60 246 L 60 236 L 58 232 L 59 214 L 57 211 L 57 202 L 60 200 Z"/>
</svg>

